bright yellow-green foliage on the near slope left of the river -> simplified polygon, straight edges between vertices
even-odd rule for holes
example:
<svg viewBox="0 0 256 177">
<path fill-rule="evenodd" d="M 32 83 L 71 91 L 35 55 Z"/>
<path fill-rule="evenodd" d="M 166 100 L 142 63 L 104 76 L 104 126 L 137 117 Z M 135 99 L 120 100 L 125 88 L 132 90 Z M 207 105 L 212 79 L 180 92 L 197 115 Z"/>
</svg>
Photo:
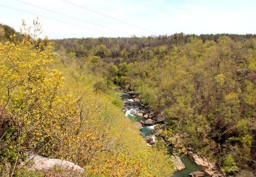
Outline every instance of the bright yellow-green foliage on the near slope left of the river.
<svg viewBox="0 0 256 177">
<path fill-rule="evenodd" d="M 92 55 L 81 64 L 64 48 L 54 54 L 47 38 L 37 39 L 37 20 L 34 28 L 23 25 L 21 42 L 14 35 L 0 43 L 1 175 L 25 172 L 28 164 L 18 164 L 33 153 L 70 160 L 91 176 L 170 176 L 170 156 L 145 144 L 109 94 L 114 86 L 101 73 L 101 58 Z M 118 73 L 115 65 L 108 71 Z"/>
</svg>

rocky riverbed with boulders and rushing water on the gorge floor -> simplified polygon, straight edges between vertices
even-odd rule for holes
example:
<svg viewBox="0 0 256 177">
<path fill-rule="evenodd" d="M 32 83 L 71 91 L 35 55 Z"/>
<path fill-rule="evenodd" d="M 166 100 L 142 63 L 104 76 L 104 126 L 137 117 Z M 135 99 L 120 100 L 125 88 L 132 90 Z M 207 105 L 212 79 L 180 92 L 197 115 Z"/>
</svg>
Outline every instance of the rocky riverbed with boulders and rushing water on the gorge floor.
<svg viewBox="0 0 256 177">
<path fill-rule="evenodd" d="M 145 142 L 148 146 L 152 146 L 156 143 L 156 136 L 160 136 L 162 129 L 165 128 L 163 113 L 156 114 L 154 110 L 150 110 L 150 107 L 142 103 L 139 99 L 138 94 L 134 91 L 123 91 L 121 90 L 122 100 L 125 106 L 125 116 L 129 119 L 136 120 L 138 128 Z M 155 129 L 155 126 L 159 127 Z M 200 158 L 192 151 L 188 152 L 189 156 L 186 156 L 181 160 L 178 156 L 173 156 L 174 162 L 177 164 L 177 173 L 174 176 L 214 176 L 221 177 L 222 173 L 217 171 L 214 163 L 210 162 L 206 158 Z M 193 160 L 193 162 L 191 162 Z M 186 162 L 185 164 L 183 162 Z M 197 166 L 196 166 L 197 165 Z M 186 171 L 184 170 L 186 168 Z M 195 173 L 193 172 L 195 171 Z M 203 171 L 205 173 L 202 173 Z"/>
</svg>

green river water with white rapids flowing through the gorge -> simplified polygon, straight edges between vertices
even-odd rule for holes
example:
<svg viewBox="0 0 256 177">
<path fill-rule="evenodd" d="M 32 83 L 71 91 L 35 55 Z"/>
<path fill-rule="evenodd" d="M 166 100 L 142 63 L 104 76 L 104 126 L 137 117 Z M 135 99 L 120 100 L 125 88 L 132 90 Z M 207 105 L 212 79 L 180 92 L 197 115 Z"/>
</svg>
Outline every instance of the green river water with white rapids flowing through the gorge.
<svg viewBox="0 0 256 177">
<path fill-rule="evenodd" d="M 129 103 L 131 103 L 132 105 L 128 105 L 125 106 L 125 116 L 129 119 L 132 119 L 132 121 L 137 121 L 140 122 L 140 120 L 144 121 L 146 119 L 144 118 L 140 118 L 138 116 L 136 116 L 136 113 L 132 114 L 132 111 L 138 110 L 141 105 L 137 102 L 135 102 L 132 97 L 127 94 L 127 93 L 121 93 L 122 99 L 125 101 L 128 101 Z M 151 137 L 154 141 L 155 141 L 155 136 L 154 136 L 154 126 L 144 126 L 142 127 L 142 129 L 140 130 L 141 134 L 143 137 Z M 147 144 L 148 146 L 151 146 L 149 144 Z M 201 171 L 202 169 L 200 168 L 200 166 L 196 165 L 195 162 L 193 162 L 189 156 L 183 156 L 181 158 L 182 162 L 184 163 L 184 165 L 186 166 L 185 169 L 183 169 L 182 171 L 177 171 L 176 173 L 173 174 L 174 177 L 187 177 L 189 176 L 189 173 L 191 172 L 195 172 L 195 171 Z"/>
</svg>

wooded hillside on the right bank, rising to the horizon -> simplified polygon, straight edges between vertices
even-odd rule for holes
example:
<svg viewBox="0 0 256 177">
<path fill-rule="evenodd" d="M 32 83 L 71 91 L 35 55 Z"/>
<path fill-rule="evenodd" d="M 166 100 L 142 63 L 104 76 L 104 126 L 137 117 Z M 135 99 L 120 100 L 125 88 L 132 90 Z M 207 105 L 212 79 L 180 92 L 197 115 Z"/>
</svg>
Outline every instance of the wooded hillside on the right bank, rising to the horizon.
<svg viewBox="0 0 256 177">
<path fill-rule="evenodd" d="M 255 173 L 255 35 L 54 40 L 88 73 L 135 90 L 182 145 L 226 173 Z M 63 63 L 66 60 L 63 58 Z M 82 65 L 80 65 L 82 67 Z M 103 85 L 103 84 L 102 84 Z"/>
</svg>

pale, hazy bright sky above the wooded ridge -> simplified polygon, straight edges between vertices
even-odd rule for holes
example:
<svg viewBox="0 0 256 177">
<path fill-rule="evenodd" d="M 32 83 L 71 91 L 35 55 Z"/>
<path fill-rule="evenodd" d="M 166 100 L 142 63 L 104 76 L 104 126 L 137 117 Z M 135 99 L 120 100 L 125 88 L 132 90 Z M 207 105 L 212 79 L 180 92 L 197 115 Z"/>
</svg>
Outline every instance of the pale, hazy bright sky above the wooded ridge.
<svg viewBox="0 0 256 177">
<path fill-rule="evenodd" d="M 39 18 L 40 37 L 255 34 L 255 0 L 0 0 L 0 23 L 20 31 Z"/>
</svg>

